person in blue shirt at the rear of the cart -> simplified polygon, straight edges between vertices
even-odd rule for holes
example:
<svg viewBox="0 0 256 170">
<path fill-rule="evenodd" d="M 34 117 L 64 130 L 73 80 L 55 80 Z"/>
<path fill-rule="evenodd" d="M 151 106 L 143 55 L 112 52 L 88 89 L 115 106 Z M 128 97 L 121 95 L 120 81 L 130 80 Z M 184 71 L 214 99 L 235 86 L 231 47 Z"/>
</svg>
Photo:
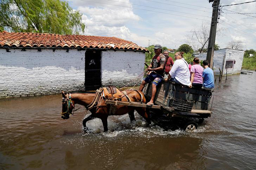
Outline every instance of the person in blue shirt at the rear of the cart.
<svg viewBox="0 0 256 170">
<path fill-rule="evenodd" d="M 214 74 L 209 67 L 208 60 L 203 60 L 203 89 L 211 90 L 214 88 Z"/>
</svg>

